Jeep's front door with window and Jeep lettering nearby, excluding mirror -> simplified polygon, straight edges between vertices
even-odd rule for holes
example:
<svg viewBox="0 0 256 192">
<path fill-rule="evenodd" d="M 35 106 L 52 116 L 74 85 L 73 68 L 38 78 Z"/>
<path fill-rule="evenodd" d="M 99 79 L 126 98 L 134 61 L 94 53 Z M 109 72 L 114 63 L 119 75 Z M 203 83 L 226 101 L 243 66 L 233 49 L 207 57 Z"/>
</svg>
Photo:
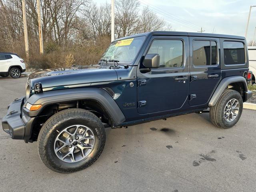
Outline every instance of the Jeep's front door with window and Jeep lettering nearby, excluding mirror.
<svg viewBox="0 0 256 192">
<path fill-rule="evenodd" d="M 138 113 L 181 108 L 188 97 L 188 37 L 153 36 L 146 54 L 160 55 L 160 68 L 142 73 L 138 68 Z"/>
</svg>

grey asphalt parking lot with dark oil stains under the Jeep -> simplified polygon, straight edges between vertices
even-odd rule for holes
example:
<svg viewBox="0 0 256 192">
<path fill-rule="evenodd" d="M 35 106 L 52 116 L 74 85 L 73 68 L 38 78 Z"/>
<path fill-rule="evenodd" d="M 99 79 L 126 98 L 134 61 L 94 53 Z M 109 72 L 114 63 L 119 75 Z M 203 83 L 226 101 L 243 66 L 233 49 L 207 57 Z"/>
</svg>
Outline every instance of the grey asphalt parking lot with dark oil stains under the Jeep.
<svg viewBox="0 0 256 192">
<path fill-rule="evenodd" d="M 26 77 L 0 78 L 0 119 L 24 95 Z M 12 140 L 0 125 L 0 191 L 248 192 L 256 188 L 256 111 L 231 129 L 209 115 L 188 114 L 106 129 L 106 145 L 89 168 L 59 174 L 46 168 L 36 142 Z"/>
</svg>

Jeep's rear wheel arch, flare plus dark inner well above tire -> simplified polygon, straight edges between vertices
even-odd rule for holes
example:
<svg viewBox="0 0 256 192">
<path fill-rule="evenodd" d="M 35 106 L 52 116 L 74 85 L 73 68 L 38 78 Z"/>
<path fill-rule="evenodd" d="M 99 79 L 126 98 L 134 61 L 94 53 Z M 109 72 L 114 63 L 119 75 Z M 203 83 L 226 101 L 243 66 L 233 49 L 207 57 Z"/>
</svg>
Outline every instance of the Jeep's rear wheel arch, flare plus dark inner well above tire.
<svg viewBox="0 0 256 192">
<path fill-rule="evenodd" d="M 244 92 L 248 91 L 246 79 L 242 76 L 231 76 L 223 78 L 220 81 L 214 93 L 212 94 L 208 106 L 214 106 L 218 102 L 224 90 L 227 88 L 238 91 L 241 94 L 243 101 L 246 100 L 244 96 Z"/>
</svg>

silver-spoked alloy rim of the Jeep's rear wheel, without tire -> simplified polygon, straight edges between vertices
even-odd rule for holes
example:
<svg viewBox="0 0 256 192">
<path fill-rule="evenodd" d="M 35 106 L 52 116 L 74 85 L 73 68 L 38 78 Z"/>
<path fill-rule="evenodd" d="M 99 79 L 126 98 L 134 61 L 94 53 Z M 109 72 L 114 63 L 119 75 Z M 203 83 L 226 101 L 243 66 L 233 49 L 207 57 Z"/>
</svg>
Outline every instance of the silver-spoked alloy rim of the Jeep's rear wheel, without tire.
<svg viewBox="0 0 256 192">
<path fill-rule="evenodd" d="M 224 119 L 226 122 L 232 122 L 235 120 L 239 112 L 239 102 L 236 99 L 228 101 L 224 108 Z"/>
</svg>

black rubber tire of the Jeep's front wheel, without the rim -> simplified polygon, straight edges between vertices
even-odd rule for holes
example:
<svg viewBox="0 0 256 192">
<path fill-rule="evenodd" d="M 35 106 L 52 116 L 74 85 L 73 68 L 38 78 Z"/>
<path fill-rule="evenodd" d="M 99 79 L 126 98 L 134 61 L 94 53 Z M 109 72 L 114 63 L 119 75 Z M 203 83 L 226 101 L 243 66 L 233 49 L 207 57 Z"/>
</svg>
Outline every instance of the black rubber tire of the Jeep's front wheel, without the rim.
<svg viewBox="0 0 256 192">
<path fill-rule="evenodd" d="M 86 158 L 78 162 L 64 162 L 54 152 L 54 141 L 58 132 L 74 124 L 84 125 L 92 130 L 94 147 Z M 72 108 L 54 114 L 44 123 L 38 135 L 38 151 L 42 162 L 48 168 L 59 173 L 71 173 L 93 164 L 102 153 L 105 141 L 106 133 L 100 119 L 87 110 Z"/>
</svg>

